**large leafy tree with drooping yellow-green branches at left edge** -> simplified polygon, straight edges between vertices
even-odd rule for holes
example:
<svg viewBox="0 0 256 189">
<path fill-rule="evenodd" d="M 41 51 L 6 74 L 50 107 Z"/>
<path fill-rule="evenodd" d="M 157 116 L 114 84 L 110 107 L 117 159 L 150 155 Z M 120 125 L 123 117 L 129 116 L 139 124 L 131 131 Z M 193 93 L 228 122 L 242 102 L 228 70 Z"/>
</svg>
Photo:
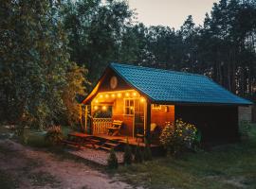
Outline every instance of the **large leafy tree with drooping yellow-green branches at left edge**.
<svg viewBox="0 0 256 189">
<path fill-rule="evenodd" d="M 47 0 L 1 2 L 1 118 L 44 128 L 62 113 L 72 115 L 75 96 L 84 94 L 83 69 L 69 60 L 58 19 L 61 7 Z"/>
</svg>

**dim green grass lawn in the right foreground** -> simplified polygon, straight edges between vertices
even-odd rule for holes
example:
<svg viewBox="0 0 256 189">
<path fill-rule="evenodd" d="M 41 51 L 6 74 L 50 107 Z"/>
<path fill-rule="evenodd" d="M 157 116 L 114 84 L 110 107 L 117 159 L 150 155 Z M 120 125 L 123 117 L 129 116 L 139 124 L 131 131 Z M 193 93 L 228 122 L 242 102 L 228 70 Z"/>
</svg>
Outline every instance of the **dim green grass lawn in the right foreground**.
<svg viewBox="0 0 256 189">
<path fill-rule="evenodd" d="M 242 143 L 120 166 L 122 180 L 148 188 L 256 188 L 256 126 Z"/>
</svg>

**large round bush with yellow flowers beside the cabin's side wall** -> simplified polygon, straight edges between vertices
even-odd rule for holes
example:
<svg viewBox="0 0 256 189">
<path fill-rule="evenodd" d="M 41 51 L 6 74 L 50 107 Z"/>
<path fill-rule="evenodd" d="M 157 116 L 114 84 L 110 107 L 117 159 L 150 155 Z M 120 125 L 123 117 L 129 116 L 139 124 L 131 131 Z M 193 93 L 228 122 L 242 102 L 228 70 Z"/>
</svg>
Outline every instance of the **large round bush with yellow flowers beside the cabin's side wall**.
<svg viewBox="0 0 256 189">
<path fill-rule="evenodd" d="M 197 129 L 189 123 L 177 119 L 174 124 L 167 124 L 160 135 L 160 143 L 168 154 L 177 156 L 186 148 L 192 148 L 196 140 Z"/>
</svg>

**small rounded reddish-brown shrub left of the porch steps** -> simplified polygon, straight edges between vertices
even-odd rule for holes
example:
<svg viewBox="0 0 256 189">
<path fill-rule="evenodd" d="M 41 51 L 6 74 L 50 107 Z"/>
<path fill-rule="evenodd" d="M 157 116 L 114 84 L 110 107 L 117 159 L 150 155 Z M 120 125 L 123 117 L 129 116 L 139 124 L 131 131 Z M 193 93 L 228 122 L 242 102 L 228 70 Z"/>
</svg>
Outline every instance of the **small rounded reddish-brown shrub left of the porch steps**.
<svg viewBox="0 0 256 189">
<path fill-rule="evenodd" d="M 47 129 L 45 140 L 50 145 L 59 144 L 64 138 L 61 126 L 53 126 Z"/>
</svg>

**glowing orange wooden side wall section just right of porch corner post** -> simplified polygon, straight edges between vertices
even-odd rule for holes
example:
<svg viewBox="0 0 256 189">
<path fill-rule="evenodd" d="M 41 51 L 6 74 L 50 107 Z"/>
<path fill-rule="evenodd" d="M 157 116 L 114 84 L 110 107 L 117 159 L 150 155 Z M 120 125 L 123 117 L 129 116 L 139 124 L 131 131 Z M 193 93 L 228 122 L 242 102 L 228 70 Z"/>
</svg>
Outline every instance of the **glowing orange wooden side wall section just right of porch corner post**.
<svg viewBox="0 0 256 189">
<path fill-rule="evenodd" d="M 151 105 L 151 123 L 163 129 L 166 122 L 174 123 L 174 105 L 160 105 L 159 109 Z"/>
</svg>

